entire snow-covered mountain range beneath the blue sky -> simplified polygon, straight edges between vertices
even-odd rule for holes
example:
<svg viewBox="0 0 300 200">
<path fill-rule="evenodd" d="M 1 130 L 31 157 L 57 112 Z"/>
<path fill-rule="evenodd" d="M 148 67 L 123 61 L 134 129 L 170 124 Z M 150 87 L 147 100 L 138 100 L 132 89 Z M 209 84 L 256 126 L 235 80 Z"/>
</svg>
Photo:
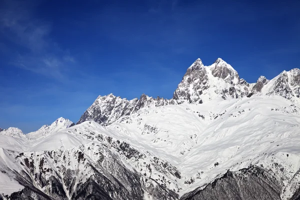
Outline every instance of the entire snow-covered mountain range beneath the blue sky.
<svg viewBox="0 0 300 200">
<path fill-rule="evenodd" d="M 3 130 L 0 199 L 299 199 L 299 83 L 197 59 L 172 99 L 109 94 L 76 125 Z"/>
</svg>

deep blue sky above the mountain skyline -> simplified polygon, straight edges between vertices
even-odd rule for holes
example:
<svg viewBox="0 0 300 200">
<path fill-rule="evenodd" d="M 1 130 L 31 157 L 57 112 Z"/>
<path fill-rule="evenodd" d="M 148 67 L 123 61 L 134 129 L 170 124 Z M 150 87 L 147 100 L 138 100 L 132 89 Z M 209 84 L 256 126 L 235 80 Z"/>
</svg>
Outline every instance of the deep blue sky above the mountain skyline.
<svg viewBox="0 0 300 200">
<path fill-rule="evenodd" d="M 111 92 L 170 98 L 198 57 L 221 57 L 248 82 L 270 79 L 300 67 L 299 9 L 296 0 L 1 0 L 0 127 L 76 122 Z"/>
</svg>

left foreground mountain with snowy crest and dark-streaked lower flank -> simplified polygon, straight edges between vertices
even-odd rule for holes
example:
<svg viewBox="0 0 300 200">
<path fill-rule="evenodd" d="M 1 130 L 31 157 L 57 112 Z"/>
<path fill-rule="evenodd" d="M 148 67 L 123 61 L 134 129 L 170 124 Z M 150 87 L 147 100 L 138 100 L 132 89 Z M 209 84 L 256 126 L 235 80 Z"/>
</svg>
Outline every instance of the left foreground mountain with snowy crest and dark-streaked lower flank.
<svg viewBox="0 0 300 200">
<path fill-rule="evenodd" d="M 140 167 L 153 168 L 160 174 L 173 176 L 176 174 L 174 167 L 162 162 L 167 166 L 164 169 L 151 163 L 153 156 L 109 135 L 110 132 L 99 124 L 85 121 L 38 139 L 36 145 L 30 140 L 27 146 L 32 147 L 24 151 L 0 148 L 1 178 L 8 176 L 9 184 L 14 183 L 13 180 L 20 184 L 17 187 L 14 183 L 12 189 L 17 192 L 10 195 L 11 190 L 6 189 L 4 182 L 0 185 L 0 193 L 10 199 L 16 196 L 21 199 L 28 196 L 33 199 L 178 198 L 178 194 L 142 176 L 139 170 Z"/>
</svg>

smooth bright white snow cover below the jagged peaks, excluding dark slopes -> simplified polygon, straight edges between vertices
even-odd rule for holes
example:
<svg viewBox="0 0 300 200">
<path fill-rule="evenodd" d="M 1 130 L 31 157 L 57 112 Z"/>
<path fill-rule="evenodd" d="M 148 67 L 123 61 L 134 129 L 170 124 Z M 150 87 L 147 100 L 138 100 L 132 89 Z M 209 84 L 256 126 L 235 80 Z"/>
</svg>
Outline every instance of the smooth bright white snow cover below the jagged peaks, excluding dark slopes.
<svg viewBox="0 0 300 200">
<path fill-rule="evenodd" d="M 143 160 L 124 159 L 129 169 L 143 173 L 143 161 L 149 163 L 154 156 L 175 166 L 181 178 L 165 176 L 171 182 L 168 188 L 180 195 L 211 182 L 228 169 L 238 170 L 250 164 L 262 164 L 276 172 L 287 185 L 282 198 L 289 197 L 300 180 L 296 174 L 300 168 L 300 108 L 280 96 L 166 105 L 140 110 L 106 127 L 93 121 L 59 127 L 58 131 L 38 130 L 38 134 L 17 137 L 0 135 L 1 167 L 15 170 L 24 167 L 7 149 L 29 154 L 75 149 L 80 145 L 88 148 L 103 145 L 92 139 L 102 134 L 125 141 L 146 155 Z M 94 159 L 92 154 L 86 156 Z M 149 175 L 155 179 L 161 172 L 153 168 L 151 174 L 145 173 Z M 9 194 L 22 188 L 9 174 L 0 176 L 0 193 Z M 11 187 L 7 188 L 7 184 Z"/>
</svg>

